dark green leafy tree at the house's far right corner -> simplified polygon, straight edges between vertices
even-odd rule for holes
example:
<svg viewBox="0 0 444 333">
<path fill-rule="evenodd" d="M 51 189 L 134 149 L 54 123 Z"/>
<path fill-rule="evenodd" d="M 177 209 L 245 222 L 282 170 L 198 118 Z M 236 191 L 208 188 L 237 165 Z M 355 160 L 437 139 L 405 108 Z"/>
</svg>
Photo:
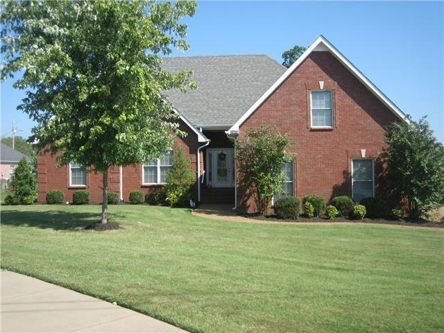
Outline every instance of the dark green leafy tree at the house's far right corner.
<svg viewBox="0 0 444 333">
<path fill-rule="evenodd" d="M 409 216 L 418 218 L 444 203 L 444 147 L 425 117 L 387 128 L 382 153 L 393 189 L 407 198 Z"/>
</svg>

